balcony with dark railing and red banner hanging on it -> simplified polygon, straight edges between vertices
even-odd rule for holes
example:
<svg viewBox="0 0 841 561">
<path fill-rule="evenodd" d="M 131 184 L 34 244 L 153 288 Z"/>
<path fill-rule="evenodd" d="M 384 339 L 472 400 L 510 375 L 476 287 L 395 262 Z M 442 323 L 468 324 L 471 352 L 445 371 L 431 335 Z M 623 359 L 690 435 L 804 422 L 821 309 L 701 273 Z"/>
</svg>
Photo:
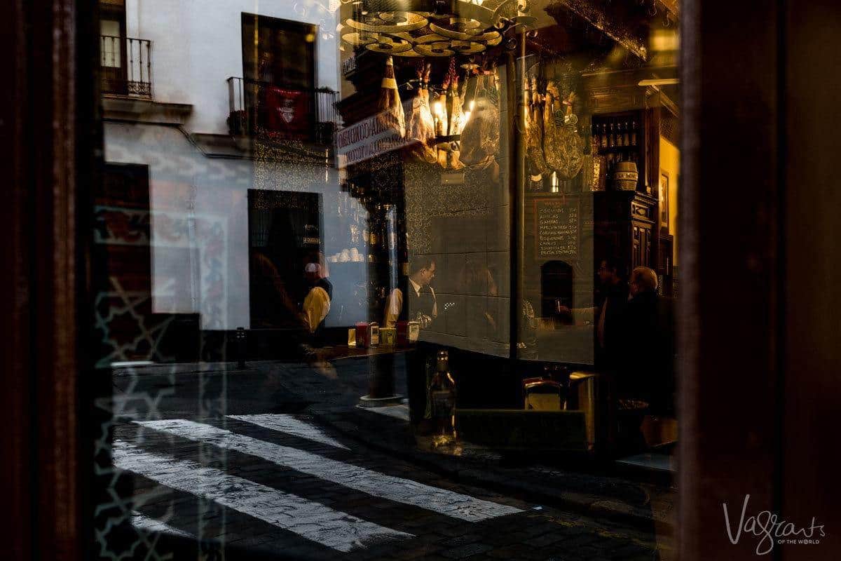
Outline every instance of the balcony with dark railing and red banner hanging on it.
<svg viewBox="0 0 841 561">
<path fill-rule="evenodd" d="M 228 78 L 228 130 L 332 146 L 339 126 L 337 93 L 326 87 L 294 89 L 240 77 Z"/>
</svg>

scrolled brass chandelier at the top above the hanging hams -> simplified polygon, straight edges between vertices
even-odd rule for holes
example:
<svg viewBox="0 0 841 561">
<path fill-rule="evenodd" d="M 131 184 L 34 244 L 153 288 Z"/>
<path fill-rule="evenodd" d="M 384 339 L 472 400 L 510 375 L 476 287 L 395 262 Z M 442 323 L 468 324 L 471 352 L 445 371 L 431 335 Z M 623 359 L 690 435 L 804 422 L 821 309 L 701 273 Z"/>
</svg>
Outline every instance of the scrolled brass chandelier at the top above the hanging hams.
<svg viewBox="0 0 841 561">
<path fill-rule="evenodd" d="M 341 0 L 346 45 L 393 56 L 476 55 L 531 28 L 529 0 Z"/>
</svg>

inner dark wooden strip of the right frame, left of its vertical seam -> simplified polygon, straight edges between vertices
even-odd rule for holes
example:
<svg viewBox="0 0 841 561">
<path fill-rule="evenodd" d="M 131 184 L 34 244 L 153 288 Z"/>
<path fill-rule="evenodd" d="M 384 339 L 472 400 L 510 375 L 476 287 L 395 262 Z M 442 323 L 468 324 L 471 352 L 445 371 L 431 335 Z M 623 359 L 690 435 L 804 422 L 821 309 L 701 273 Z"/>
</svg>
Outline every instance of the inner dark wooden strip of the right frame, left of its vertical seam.
<svg viewBox="0 0 841 561">
<path fill-rule="evenodd" d="M 680 21 L 677 537 L 683 561 L 747 559 L 756 544 L 728 541 L 722 503 L 778 506 L 779 6 L 696 0 Z M 732 111 L 711 109 L 724 100 Z M 752 149 L 712 140 L 722 135 L 748 135 Z"/>
</svg>

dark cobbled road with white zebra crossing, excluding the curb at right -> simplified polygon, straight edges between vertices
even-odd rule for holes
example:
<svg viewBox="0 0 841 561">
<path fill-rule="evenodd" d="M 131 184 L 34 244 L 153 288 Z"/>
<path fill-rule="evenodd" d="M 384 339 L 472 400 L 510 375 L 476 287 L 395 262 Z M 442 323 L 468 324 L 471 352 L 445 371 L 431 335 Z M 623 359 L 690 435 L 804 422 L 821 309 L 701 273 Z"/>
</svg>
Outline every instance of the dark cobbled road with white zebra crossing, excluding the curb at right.
<svg viewBox="0 0 841 561">
<path fill-rule="evenodd" d="M 132 542 L 144 559 L 198 548 L 228 559 L 674 558 L 653 524 L 459 481 L 347 437 L 315 405 L 301 407 L 313 391 L 303 371 L 276 388 L 285 401 L 267 392 L 278 380 L 264 372 L 115 378 L 128 391 L 115 394 L 103 447 L 113 465 L 98 511 L 103 552 Z M 352 394 L 349 372 L 339 378 Z M 341 410 L 341 394 L 320 405 Z M 284 404 L 299 411 L 278 412 Z"/>
</svg>

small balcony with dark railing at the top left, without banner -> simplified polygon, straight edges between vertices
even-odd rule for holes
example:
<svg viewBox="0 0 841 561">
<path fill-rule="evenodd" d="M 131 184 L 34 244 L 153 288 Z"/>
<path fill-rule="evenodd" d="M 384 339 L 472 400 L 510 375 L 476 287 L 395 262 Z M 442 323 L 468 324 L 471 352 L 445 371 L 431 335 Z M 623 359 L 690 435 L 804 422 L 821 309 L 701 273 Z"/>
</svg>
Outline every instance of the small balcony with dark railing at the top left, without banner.
<svg viewBox="0 0 841 561">
<path fill-rule="evenodd" d="M 151 98 L 151 41 L 111 35 L 101 35 L 99 41 L 102 92 Z"/>
</svg>

